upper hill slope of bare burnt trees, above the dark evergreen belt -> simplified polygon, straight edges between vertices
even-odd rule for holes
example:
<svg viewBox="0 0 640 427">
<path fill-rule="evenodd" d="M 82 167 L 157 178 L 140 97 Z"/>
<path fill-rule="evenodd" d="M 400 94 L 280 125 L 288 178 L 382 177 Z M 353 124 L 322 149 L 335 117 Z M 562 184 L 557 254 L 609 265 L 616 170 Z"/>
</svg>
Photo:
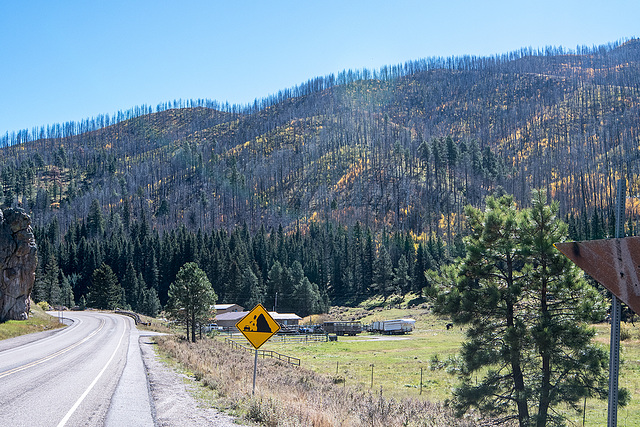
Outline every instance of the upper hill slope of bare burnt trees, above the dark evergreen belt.
<svg viewBox="0 0 640 427">
<path fill-rule="evenodd" d="M 245 110 L 144 110 L 48 132 L 0 152 L 3 201 L 63 229 L 97 199 L 145 209 L 159 230 L 330 219 L 451 238 L 462 207 L 498 186 L 524 204 L 546 188 L 563 213 L 588 215 L 612 205 L 616 177 L 637 193 L 638 40 L 360 77 Z"/>
</svg>

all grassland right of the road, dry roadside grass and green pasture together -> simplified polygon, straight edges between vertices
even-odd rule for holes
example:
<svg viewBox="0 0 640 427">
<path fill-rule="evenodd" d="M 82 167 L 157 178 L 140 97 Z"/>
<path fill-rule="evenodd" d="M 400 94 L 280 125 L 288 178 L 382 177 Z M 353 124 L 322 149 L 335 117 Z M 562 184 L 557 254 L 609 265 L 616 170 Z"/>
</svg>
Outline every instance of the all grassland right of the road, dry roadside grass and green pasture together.
<svg viewBox="0 0 640 427">
<path fill-rule="evenodd" d="M 161 337 L 158 347 L 166 358 L 200 382 L 198 397 L 204 404 L 262 425 L 476 425 L 473 418 L 479 416 L 478 412 L 455 418 L 449 408 L 458 382 L 456 356 L 466 327 L 447 329 L 449 317 L 433 314 L 428 302 L 410 304 L 415 301 L 416 295 L 411 294 L 393 303 L 372 298 L 357 307 L 333 307 L 330 314 L 333 319 L 361 320 L 365 324 L 415 319 L 416 329 L 408 335 L 363 333 L 322 343 L 268 341 L 261 350 L 299 358 L 301 366 L 259 359 L 253 398 L 252 353 L 233 350 L 225 344 L 224 335 L 197 344 Z M 322 320 L 324 315 L 310 316 L 305 322 Z M 606 350 L 610 326 L 603 322 L 592 327 L 596 331 L 593 342 Z M 233 339 L 243 342 L 240 334 Z M 619 425 L 640 425 L 640 401 L 634 398 L 640 394 L 640 329 L 631 323 L 622 326 L 621 354 L 620 386 L 629 390 L 631 400 L 618 410 Z M 319 398 L 317 394 L 324 395 Z M 566 425 L 606 424 L 606 400 L 587 398 L 579 406 L 578 412 L 566 405 L 556 410 L 566 417 Z M 403 424 L 405 421 L 407 424 Z"/>
</svg>

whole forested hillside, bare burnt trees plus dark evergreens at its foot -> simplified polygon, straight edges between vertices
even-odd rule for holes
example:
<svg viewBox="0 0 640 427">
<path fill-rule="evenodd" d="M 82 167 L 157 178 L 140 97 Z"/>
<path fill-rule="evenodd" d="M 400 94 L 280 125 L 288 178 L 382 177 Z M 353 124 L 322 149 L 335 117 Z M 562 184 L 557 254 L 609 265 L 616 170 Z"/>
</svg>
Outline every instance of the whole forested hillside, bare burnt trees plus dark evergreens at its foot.
<svg viewBox="0 0 640 427">
<path fill-rule="evenodd" d="M 0 197 L 32 216 L 41 277 L 61 281 L 59 267 L 76 299 L 105 262 L 130 306 L 164 303 L 181 263 L 198 260 L 222 300 L 247 304 L 239 281 L 275 297 L 277 260 L 294 277 L 281 292 L 302 301 L 307 289 L 316 304 L 289 308 L 319 311 L 420 289 L 391 285 L 395 271 L 406 263 L 421 281 L 419 251 L 458 254 L 464 206 L 495 191 L 527 206 L 545 189 L 589 238 L 606 234 L 613 183 L 626 178 L 635 228 L 639 106 L 639 40 L 431 58 L 315 78 L 250 106 L 175 101 L 5 135 Z"/>
</svg>

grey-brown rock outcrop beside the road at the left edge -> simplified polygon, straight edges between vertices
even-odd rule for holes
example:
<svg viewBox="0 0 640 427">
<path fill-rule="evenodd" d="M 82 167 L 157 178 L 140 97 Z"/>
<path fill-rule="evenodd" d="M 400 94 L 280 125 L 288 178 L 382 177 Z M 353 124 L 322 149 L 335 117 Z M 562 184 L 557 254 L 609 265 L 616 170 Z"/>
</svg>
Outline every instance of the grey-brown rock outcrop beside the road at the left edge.
<svg viewBox="0 0 640 427">
<path fill-rule="evenodd" d="M 0 322 L 29 317 L 37 264 L 31 217 L 22 209 L 0 211 Z"/>
</svg>

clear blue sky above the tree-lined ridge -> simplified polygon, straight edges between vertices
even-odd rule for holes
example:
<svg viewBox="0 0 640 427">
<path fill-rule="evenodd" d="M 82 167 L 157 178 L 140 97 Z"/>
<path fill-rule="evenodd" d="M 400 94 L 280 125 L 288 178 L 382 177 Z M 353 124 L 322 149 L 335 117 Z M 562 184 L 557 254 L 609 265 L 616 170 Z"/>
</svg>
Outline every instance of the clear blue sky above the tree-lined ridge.
<svg viewBox="0 0 640 427">
<path fill-rule="evenodd" d="M 640 36 L 638 16 L 615 0 L 0 0 L 0 135 L 430 56 L 601 45 Z"/>
</svg>

